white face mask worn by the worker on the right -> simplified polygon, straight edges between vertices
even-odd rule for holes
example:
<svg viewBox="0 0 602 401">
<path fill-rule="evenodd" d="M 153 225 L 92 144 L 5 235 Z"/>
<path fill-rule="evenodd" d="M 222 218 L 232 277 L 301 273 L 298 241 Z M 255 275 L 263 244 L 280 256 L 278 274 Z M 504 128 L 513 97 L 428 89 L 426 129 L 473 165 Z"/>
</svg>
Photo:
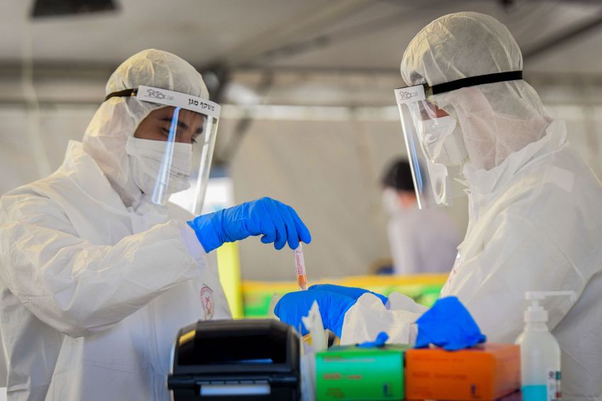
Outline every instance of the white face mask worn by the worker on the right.
<svg viewBox="0 0 602 401">
<path fill-rule="evenodd" d="M 460 165 L 468 157 L 462 132 L 455 118 L 445 117 L 425 120 L 424 146 L 433 163 Z"/>
</svg>

